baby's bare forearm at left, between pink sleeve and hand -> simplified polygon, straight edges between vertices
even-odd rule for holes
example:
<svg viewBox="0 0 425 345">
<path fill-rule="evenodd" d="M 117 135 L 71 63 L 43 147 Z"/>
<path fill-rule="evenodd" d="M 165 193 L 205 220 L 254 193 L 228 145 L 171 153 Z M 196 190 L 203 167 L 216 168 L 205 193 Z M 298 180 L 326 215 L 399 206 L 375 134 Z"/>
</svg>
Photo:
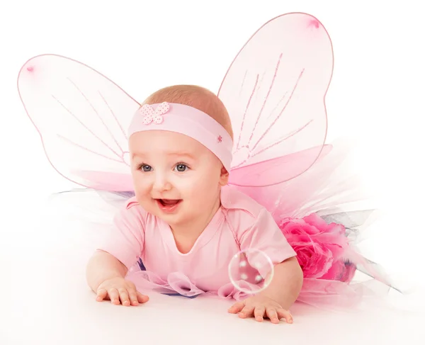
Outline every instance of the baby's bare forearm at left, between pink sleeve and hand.
<svg viewBox="0 0 425 345">
<path fill-rule="evenodd" d="M 94 292 L 97 291 L 98 285 L 107 279 L 124 278 L 125 274 L 127 274 L 127 268 L 106 251 L 96 251 L 86 268 L 87 283 Z"/>
</svg>

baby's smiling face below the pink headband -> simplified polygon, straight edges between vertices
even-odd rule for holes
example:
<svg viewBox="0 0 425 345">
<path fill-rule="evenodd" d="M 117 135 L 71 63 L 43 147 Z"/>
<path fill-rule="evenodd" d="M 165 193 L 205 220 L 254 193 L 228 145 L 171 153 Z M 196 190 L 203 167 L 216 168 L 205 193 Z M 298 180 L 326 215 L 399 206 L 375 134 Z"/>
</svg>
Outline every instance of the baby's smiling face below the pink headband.
<svg viewBox="0 0 425 345">
<path fill-rule="evenodd" d="M 164 130 L 136 132 L 129 144 L 142 208 L 171 227 L 211 213 L 227 183 L 215 154 L 191 137 Z"/>
</svg>

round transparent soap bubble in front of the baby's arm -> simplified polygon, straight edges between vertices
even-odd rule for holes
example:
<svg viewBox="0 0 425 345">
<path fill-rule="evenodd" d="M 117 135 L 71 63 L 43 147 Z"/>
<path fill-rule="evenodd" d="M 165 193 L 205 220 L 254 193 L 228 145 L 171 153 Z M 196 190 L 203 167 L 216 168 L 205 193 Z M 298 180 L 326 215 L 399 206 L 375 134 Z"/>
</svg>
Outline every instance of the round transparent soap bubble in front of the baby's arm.
<svg viewBox="0 0 425 345">
<path fill-rule="evenodd" d="M 229 278 L 243 293 L 259 293 L 270 285 L 274 267 L 271 259 L 258 249 L 239 251 L 229 262 Z"/>
</svg>

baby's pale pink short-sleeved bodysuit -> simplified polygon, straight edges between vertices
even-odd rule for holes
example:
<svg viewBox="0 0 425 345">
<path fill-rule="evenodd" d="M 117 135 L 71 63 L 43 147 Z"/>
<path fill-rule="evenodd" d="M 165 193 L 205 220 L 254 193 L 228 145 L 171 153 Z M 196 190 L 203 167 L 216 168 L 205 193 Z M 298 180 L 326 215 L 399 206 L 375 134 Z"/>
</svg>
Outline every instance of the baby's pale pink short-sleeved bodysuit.
<svg viewBox="0 0 425 345">
<path fill-rule="evenodd" d="M 187 254 L 177 249 L 169 225 L 143 210 L 135 198 L 115 216 L 111 236 L 98 249 L 127 266 L 127 278 L 142 293 L 153 288 L 186 296 L 215 293 L 237 298 L 240 291 L 232 285 L 228 268 L 239 251 L 259 249 L 273 264 L 296 254 L 263 206 L 228 186 L 220 198 L 220 209 Z M 137 265 L 140 260 L 145 270 Z"/>
</svg>

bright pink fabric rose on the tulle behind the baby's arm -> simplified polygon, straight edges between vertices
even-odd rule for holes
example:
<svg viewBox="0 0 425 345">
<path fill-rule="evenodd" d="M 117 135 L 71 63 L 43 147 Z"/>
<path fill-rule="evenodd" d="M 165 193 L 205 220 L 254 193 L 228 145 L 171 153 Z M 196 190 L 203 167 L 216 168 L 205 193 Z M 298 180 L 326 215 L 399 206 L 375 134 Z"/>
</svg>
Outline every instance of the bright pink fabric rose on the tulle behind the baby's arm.
<svg viewBox="0 0 425 345">
<path fill-rule="evenodd" d="M 302 219 L 284 220 L 280 230 L 297 253 L 305 278 L 351 281 L 356 266 L 344 261 L 348 249 L 344 225 L 327 224 L 312 213 Z"/>
</svg>

